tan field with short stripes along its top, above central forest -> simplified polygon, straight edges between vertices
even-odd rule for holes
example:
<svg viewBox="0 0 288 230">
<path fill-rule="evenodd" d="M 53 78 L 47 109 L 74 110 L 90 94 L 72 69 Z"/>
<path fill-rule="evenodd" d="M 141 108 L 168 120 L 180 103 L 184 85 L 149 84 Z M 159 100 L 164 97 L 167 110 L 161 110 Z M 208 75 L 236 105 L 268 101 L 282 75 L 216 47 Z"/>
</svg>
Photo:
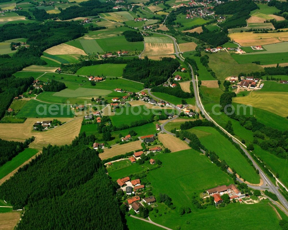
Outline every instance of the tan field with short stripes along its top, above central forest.
<svg viewBox="0 0 288 230">
<path fill-rule="evenodd" d="M 173 54 L 174 45 L 172 43 L 145 43 L 143 56 L 154 56 L 162 54 Z"/>
</svg>

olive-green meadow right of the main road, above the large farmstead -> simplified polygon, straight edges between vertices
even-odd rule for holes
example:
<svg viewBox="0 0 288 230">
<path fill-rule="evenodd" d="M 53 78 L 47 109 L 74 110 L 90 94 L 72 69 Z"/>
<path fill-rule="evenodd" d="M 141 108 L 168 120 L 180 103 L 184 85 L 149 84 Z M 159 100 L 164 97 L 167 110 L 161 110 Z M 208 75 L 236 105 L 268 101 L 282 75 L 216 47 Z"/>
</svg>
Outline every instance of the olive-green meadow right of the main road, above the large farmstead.
<svg viewBox="0 0 288 230">
<path fill-rule="evenodd" d="M 261 55 L 261 54 L 260 54 Z M 227 52 L 216 54 L 208 54 L 209 67 L 215 72 L 217 79 L 224 80 L 229 76 L 238 76 L 240 73 L 251 73 L 255 71 L 262 72 L 263 68 L 260 65 L 251 63 L 257 61 L 257 58 L 246 58 L 246 55 L 230 55 Z M 242 61 L 238 61 L 238 60 Z M 250 62 L 247 59 L 251 60 Z M 238 62 L 236 62 L 236 61 Z M 288 57 L 287 57 L 288 62 Z M 262 64 L 262 63 L 261 63 Z"/>
</svg>

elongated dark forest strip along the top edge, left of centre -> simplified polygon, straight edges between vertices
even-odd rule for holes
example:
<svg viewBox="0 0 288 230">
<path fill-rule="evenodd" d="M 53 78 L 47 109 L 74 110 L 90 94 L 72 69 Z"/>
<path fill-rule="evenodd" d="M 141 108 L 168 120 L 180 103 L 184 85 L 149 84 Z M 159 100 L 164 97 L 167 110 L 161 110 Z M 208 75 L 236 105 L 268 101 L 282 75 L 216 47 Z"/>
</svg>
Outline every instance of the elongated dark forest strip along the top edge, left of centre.
<svg viewBox="0 0 288 230">
<path fill-rule="evenodd" d="M 98 0 L 89 0 L 80 2 L 79 6 L 74 5 L 61 10 L 59 14 L 48 14 L 45 9 L 29 9 L 38 21 L 44 21 L 51 18 L 59 18 L 60 20 L 68 20 L 77 17 L 97 16 L 98 13 L 111 12 L 114 3 L 100 2 Z"/>
</svg>

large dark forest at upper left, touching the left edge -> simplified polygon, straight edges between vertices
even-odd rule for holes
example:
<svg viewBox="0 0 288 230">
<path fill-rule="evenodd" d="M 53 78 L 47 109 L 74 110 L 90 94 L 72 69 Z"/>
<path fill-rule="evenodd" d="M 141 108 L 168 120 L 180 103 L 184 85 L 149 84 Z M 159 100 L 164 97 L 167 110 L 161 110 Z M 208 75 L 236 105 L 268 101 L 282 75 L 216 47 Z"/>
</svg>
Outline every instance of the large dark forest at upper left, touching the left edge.
<svg viewBox="0 0 288 230">
<path fill-rule="evenodd" d="M 45 24 L 7 24 L 0 27 L 0 42 L 19 37 L 27 38 L 29 48 L 19 49 L 12 57 L 0 55 L 0 79 L 10 77 L 24 67 L 45 65 L 42 51 L 66 41 L 81 37 L 86 28 L 76 22 L 47 22 Z"/>
</svg>

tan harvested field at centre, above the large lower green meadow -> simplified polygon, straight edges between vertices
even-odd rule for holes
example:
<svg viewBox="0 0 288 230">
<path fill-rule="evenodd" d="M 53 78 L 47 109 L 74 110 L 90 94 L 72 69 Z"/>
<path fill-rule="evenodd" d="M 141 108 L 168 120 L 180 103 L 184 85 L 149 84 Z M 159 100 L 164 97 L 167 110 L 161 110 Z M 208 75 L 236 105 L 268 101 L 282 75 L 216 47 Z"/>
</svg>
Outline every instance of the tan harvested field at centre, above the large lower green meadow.
<svg viewBox="0 0 288 230">
<path fill-rule="evenodd" d="M 158 140 L 162 142 L 165 148 L 170 149 L 172 153 L 184 149 L 191 149 L 186 142 L 167 133 L 159 133 Z"/>
</svg>

